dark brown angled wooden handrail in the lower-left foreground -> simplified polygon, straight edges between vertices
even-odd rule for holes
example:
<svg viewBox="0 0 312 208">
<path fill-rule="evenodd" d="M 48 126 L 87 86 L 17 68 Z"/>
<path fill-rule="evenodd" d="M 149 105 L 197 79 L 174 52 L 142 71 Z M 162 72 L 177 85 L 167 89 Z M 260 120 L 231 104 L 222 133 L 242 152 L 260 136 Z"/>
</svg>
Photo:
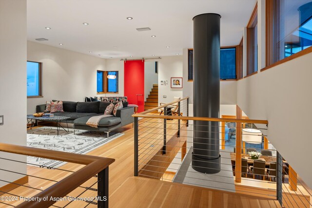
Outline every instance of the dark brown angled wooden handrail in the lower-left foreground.
<svg viewBox="0 0 312 208">
<path fill-rule="evenodd" d="M 0 151 L 86 165 L 80 170 L 72 173 L 66 178 L 60 180 L 58 183 L 52 185 L 48 189 L 45 189 L 34 196 L 41 199 L 43 199 L 44 197 L 48 197 L 48 199 L 50 199 L 50 197 L 66 196 L 66 194 L 76 189 L 78 186 L 89 180 L 98 172 L 106 169 L 110 164 L 115 161 L 115 159 L 112 158 L 75 154 L 62 151 L 43 150 L 39 148 L 23 147 L 4 143 L 0 143 Z M 49 207 L 55 202 L 56 201 L 50 200 L 29 202 L 25 201 L 18 205 L 17 208 Z"/>
</svg>

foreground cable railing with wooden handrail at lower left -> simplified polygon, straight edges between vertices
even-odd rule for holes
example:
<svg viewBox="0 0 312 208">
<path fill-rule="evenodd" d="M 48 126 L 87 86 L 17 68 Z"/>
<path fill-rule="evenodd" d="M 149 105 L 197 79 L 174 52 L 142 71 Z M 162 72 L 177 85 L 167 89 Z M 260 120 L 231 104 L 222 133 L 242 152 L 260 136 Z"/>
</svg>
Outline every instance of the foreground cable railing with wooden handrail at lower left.
<svg viewBox="0 0 312 208">
<path fill-rule="evenodd" d="M 108 207 L 108 166 L 115 161 L 114 159 L 3 143 L 0 143 L 0 151 L 82 165 L 77 171 L 59 168 L 45 169 L 45 172 L 42 173 L 45 177 L 42 177 L 40 174 L 21 173 L 1 167 L 0 171 L 28 177 L 31 183 L 0 179 L 1 182 L 16 187 L 6 191 L 0 190 L 0 207 L 1 204 L 17 208 L 64 208 L 69 205 L 74 207 L 90 207 L 91 205 L 98 208 Z M 0 159 L 2 163 L 7 161 L 29 164 L 24 161 L 4 157 Z M 42 166 L 36 164 L 31 165 L 42 168 Z M 46 171 L 53 171 L 53 173 L 47 174 Z M 34 172 L 39 173 L 39 171 Z M 53 178 L 46 178 L 46 175 L 51 175 Z M 55 180 L 54 175 L 57 175 L 59 180 Z M 97 187 L 94 187 L 95 185 Z M 39 188 L 39 186 L 44 188 Z M 15 189 L 19 191 L 15 191 Z M 21 193 L 21 195 L 17 193 Z M 81 202 L 85 204 L 81 205 Z"/>
</svg>

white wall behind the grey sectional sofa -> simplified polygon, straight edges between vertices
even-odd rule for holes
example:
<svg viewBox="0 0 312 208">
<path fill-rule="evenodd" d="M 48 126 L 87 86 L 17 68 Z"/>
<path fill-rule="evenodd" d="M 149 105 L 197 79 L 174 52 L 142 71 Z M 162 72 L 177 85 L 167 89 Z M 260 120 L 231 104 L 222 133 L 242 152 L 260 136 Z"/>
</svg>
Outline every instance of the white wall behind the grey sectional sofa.
<svg viewBox="0 0 312 208">
<path fill-rule="evenodd" d="M 43 94 L 43 97 L 27 98 L 28 114 L 35 113 L 36 105 L 47 100 L 84 101 L 85 96 L 97 96 L 97 70 L 112 70 L 105 67 L 103 58 L 32 41 L 27 41 L 27 60 L 42 62 Z M 119 83 L 120 80 L 123 79 L 119 75 Z M 120 84 L 119 88 L 123 90 Z"/>
</svg>

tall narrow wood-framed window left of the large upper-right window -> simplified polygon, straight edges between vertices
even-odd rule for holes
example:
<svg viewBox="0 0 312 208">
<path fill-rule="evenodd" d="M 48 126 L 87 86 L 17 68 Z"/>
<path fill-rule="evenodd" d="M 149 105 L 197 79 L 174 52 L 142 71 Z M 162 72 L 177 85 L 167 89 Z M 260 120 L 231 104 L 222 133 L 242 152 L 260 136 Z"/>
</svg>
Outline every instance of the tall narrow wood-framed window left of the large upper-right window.
<svg viewBox="0 0 312 208">
<path fill-rule="evenodd" d="M 247 75 L 258 71 L 257 5 L 247 25 Z"/>
</svg>

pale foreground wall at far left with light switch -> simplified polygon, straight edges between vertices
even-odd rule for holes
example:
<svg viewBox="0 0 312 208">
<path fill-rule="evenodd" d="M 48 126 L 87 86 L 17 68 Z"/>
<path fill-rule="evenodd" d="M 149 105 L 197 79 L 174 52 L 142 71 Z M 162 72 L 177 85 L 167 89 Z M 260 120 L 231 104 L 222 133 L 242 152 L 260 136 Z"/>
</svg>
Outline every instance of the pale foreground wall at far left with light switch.
<svg viewBox="0 0 312 208">
<path fill-rule="evenodd" d="M 26 0 L 0 0 L 0 142 L 26 145 Z M 22 162 L 26 157 L 0 152 Z M 22 163 L 0 160 L 1 169 L 26 173 Z M 0 179 L 13 182 L 23 175 L 0 171 Z M 0 187 L 4 183 L 0 181 Z"/>
</svg>

